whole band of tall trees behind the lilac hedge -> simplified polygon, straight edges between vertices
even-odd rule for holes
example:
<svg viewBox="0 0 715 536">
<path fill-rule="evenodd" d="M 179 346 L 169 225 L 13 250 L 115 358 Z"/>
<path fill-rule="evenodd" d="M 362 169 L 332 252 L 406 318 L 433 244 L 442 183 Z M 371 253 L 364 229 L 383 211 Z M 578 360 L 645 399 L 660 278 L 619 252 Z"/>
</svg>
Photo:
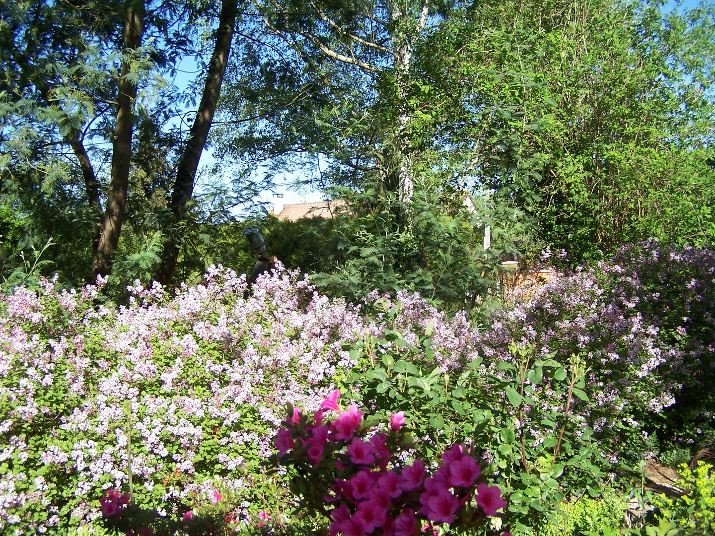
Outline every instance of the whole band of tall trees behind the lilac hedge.
<svg viewBox="0 0 715 536">
<path fill-rule="evenodd" d="M 712 8 L 34 0 L 0 9 L 6 269 L 52 237 L 47 269 L 67 282 L 107 272 L 113 259 L 119 288 L 137 276 L 170 282 L 176 269 L 190 278 L 211 260 L 241 258 L 222 227 L 235 220 L 231 199 L 291 172 L 352 203 L 320 230 L 312 265 L 347 296 L 407 285 L 465 304 L 473 292 L 445 280 L 465 259 L 485 274 L 539 241 L 579 262 L 641 237 L 704 244 L 715 233 Z M 201 74 L 182 94 L 172 76 L 189 56 Z M 218 172 L 236 181 L 217 179 L 202 204 L 195 177 L 215 106 Z M 495 232 L 488 253 L 485 224 Z"/>
</svg>

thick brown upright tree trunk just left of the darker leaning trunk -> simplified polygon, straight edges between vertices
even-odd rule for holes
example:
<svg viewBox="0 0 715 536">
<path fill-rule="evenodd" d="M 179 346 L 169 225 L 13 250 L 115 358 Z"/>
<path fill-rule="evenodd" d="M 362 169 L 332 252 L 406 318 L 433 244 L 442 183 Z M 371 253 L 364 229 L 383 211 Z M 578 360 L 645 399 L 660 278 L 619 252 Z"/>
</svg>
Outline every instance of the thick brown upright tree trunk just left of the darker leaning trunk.
<svg viewBox="0 0 715 536">
<path fill-rule="evenodd" d="M 130 78 L 130 59 L 127 54 L 142 44 L 144 25 L 143 0 L 127 0 L 124 7 L 124 61 L 117 95 L 117 120 L 112 139 L 112 175 L 107 194 L 107 210 L 99 235 L 97 252 L 94 255 L 94 277 L 106 275 L 112 266 L 114 252 L 119 244 L 119 233 L 124 221 L 124 206 L 129 188 L 129 165 L 132 162 L 132 127 L 134 126 L 134 100 L 137 98 L 137 82 Z"/>
</svg>

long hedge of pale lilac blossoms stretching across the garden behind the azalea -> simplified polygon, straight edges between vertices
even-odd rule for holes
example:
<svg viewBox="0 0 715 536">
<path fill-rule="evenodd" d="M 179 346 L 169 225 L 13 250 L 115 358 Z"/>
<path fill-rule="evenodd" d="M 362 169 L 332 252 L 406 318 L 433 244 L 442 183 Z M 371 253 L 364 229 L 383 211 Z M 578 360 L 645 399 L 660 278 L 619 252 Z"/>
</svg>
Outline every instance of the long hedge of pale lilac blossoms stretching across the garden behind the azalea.
<svg viewBox="0 0 715 536">
<path fill-rule="evenodd" d="M 244 277 L 212 269 L 175 296 L 137 285 L 118 308 L 96 305 L 99 287 L 16 289 L 0 303 L 0 531 L 66 534 L 101 516 L 98 497 L 127 485 L 127 401 L 139 506 L 180 516 L 218 488 L 235 497 L 237 517 L 255 517 L 259 497 L 285 493 L 259 465 L 285 403 L 314 412 L 345 387 L 368 342 L 376 356 L 398 355 L 425 335 L 430 346 L 411 359 L 452 377 L 480 359 L 484 373 L 470 381 L 495 408 L 509 407 L 493 386 L 500 362 L 515 360 L 511 342 L 564 363 L 577 355 L 588 372 L 569 418 L 602 438 L 607 465 L 646 448 L 676 399 L 711 419 L 702 386 L 714 371 L 714 273 L 704 250 L 627 247 L 504 304 L 480 329 L 407 292 L 368 297 L 366 317 L 280 270 L 247 298 Z M 526 383 L 538 404 L 565 405 L 548 382 Z M 520 411 L 523 422 L 513 411 L 508 426 L 528 428 L 535 444 L 553 435 L 530 407 Z"/>
</svg>

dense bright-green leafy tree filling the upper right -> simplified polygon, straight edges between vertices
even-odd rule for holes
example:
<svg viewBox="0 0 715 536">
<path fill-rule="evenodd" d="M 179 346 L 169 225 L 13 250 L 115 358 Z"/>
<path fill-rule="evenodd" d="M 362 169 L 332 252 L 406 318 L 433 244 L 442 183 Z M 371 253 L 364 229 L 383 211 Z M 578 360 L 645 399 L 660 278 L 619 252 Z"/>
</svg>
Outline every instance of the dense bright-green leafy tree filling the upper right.
<svg viewBox="0 0 715 536">
<path fill-rule="evenodd" d="M 435 161 L 508 192 L 574 261 L 711 242 L 714 20 L 647 1 L 466 8 L 415 51 L 440 97 L 423 101 Z"/>
</svg>

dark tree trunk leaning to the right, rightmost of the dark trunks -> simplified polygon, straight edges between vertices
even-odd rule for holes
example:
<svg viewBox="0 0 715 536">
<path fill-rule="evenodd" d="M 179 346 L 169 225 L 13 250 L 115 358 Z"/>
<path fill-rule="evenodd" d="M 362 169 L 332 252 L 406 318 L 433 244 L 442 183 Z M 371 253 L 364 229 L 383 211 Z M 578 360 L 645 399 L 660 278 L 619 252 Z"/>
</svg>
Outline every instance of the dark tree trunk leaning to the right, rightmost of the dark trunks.
<svg viewBox="0 0 715 536">
<path fill-rule="evenodd" d="M 196 119 L 189 132 L 189 139 L 179 159 L 177 177 L 169 201 L 174 224 L 184 216 L 186 203 L 194 192 L 194 179 L 199 167 L 199 159 L 209 136 L 209 129 L 216 111 L 216 104 L 221 93 L 221 84 L 231 50 L 234 26 L 236 24 L 237 0 L 222 0 L 221 15 L 216 35 L 216 44 L 209 64 L 206 85 L 201 97 L 201 103 L 196 113 Z M 174 274 L 179 257 L 179 236 L 174 232 L 164 243 L 162 266 L 157 274 L 157 281 L 168 284 Z"/>
</svg>

